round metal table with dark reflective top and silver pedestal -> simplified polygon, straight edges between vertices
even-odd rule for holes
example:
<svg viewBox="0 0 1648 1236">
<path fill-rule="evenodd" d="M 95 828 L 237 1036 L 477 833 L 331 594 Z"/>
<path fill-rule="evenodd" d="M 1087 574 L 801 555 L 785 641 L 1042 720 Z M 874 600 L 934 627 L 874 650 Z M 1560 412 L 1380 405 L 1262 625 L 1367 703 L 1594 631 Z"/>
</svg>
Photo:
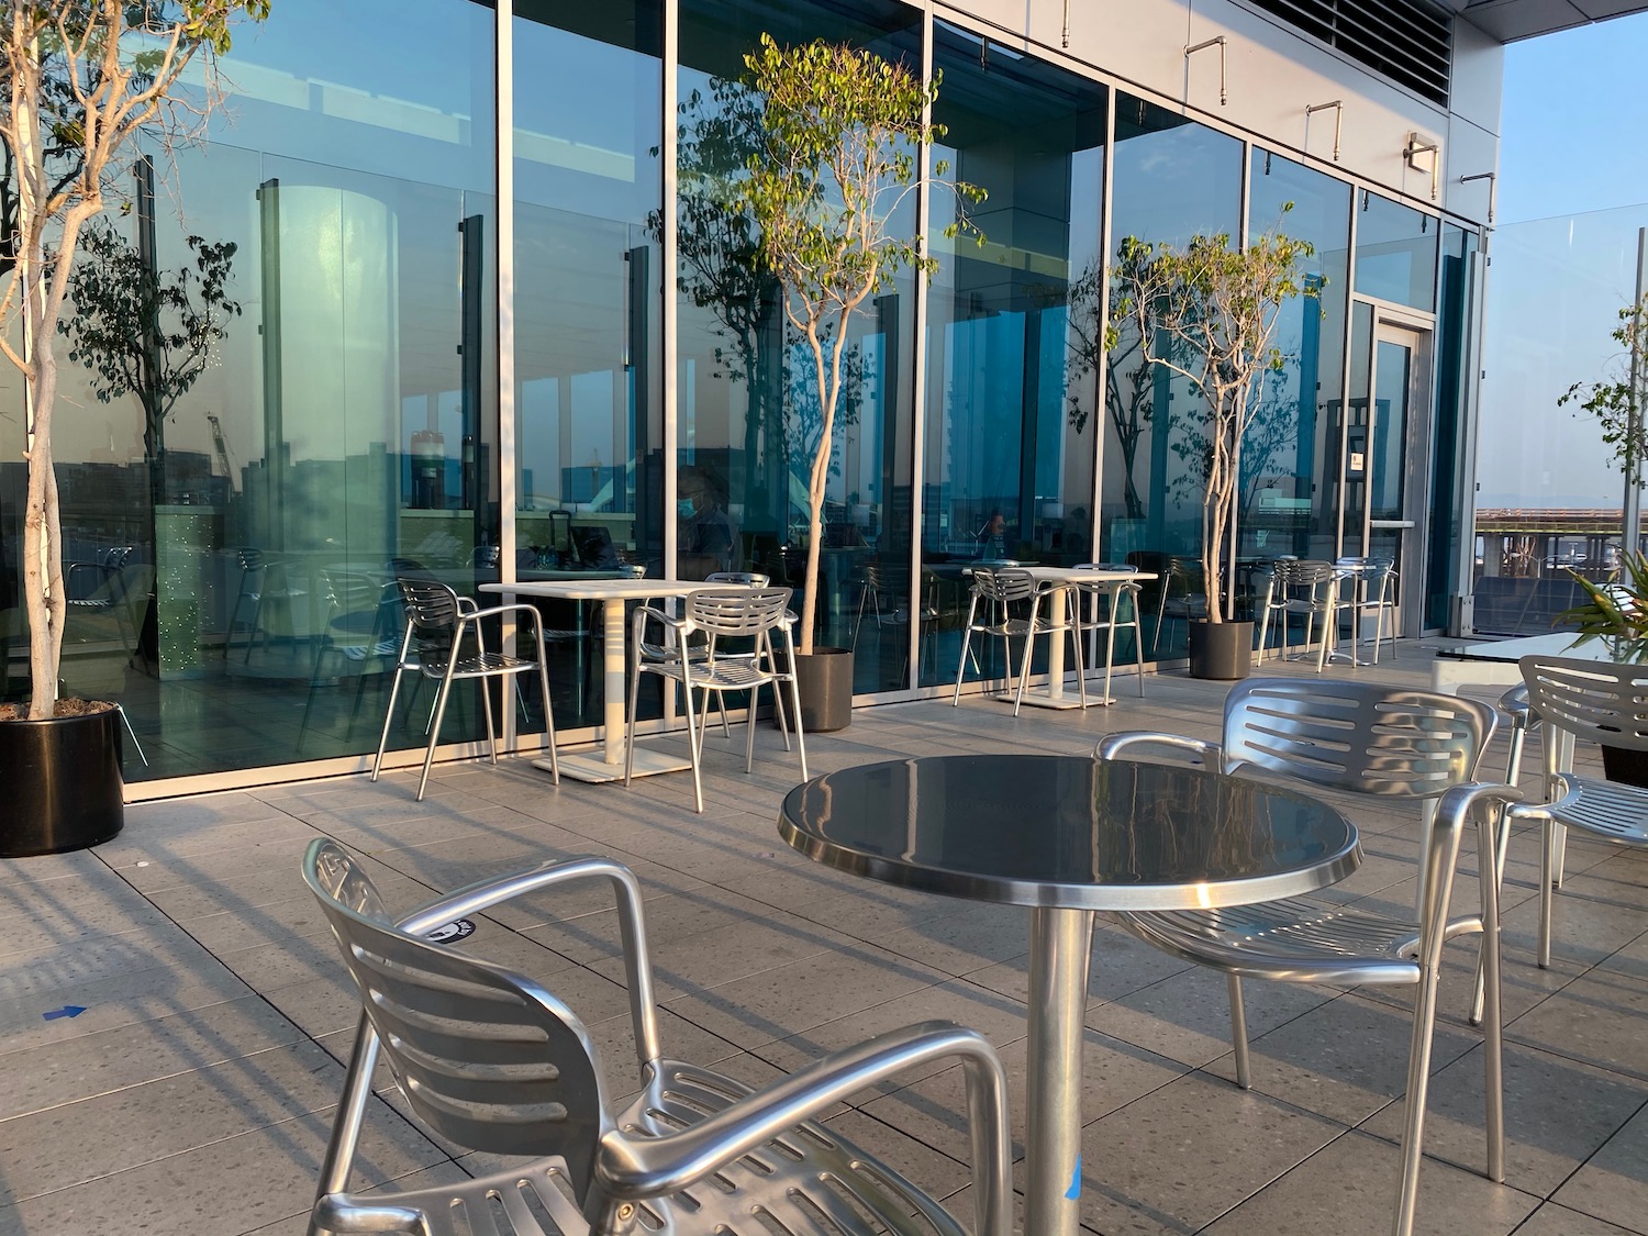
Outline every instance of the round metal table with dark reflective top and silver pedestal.
<svg viewBox="0 0 1648 1236">
<path fill-rule="evenodd" d="M 844 768 L 789 791 L 778 832 L 844 872 L 1030 906 L 1025 1231 L 1037 1236 L 1078 1228 L 1093 911 L 1251 905 L 1323 888 L 1361 864 L 1356 827 L 1305 794 L 1089 756 Z"/>
</svg>

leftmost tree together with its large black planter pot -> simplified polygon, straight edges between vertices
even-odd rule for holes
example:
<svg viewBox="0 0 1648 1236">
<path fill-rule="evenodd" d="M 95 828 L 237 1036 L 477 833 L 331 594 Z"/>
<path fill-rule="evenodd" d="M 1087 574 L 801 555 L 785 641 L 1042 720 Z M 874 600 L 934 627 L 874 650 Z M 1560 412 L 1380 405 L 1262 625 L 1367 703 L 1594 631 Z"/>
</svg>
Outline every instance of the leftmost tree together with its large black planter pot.
<svg viewBox="0 0 1648 1236">
<path fill-rule="evenodd" d="M 0 349 L 28 392 L 21 575 L 31 682 L 26 712 L 0 720 L 5 857 L 96 845 L 120 831 L 124 812 L 119 712 L 58 697 L 68 595 L 51 443 L 56 336 L 74 255 L 133 138 L 186 137 L 186 124 L 216 99 L 213 68 L 231 23 L 267 13 L 269 0 L 5 0 L 0 142 L 15 234 L 0 320 L 21 320 L 21 346 L 0 335 Z M 208 89 L 173 99 L 196 63 Z"/>
</svg>

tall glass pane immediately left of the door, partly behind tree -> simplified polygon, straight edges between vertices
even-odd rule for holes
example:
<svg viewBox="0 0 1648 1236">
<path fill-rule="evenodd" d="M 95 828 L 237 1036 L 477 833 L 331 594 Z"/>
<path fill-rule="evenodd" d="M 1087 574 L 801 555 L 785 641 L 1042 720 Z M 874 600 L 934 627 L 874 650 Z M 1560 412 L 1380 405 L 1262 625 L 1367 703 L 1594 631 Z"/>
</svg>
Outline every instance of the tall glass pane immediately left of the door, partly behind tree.
<svg viewBox="0 0 1648 1236">
<path fill-rule="evenodd" d="M 1267 150 L 1252 152 L 1249 227 L 1310 241 L 1307 295 L 1282 305 L 1276 346 L 1282 369 L 1267 374 L 1243 440 L 1238 583 L 1262 587 L 1262 565 L 1290 554 L 1333 557 L 1338 511 L 1327 504 L 1338 460 L 1327 447 L 1340 405 L 1345 303 L 1350 292 L 1350 186 Z M 1292 203 L 1292 209 L 1285 209 Z"/>
</svg>

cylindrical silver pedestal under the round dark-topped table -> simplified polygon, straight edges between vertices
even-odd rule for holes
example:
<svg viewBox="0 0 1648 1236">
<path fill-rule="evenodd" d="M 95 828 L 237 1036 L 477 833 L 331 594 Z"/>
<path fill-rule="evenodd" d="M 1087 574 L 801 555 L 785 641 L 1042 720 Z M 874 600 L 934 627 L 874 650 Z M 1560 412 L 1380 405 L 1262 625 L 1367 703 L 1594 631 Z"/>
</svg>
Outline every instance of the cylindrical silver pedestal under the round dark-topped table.
<svg viewBox="0 0 1648 1236">
<path fill-rule="evenodd" d="M 1025 1231 L 1037 1236 L 1076 1236 L 1081 1226 L 1081 1045 L 1091 954 L 1091 910 L 1030 911 Z"/>
</svg>

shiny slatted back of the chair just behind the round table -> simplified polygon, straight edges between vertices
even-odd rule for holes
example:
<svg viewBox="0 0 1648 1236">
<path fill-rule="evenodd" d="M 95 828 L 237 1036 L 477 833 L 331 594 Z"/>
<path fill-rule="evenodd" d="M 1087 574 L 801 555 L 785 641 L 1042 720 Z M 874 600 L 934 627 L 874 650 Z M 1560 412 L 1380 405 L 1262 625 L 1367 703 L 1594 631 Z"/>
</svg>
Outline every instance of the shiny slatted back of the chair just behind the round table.
<svg viewBox="0 0 1648 1236">
<path fill-rule="evenodd" d="M 1224 699 L 1223 761 L 1332 789 L 1437 798 L 1465 784 L 1493 737 L 1486 704 L 1322 679 L 1248 679 Z"/>
</svg>

